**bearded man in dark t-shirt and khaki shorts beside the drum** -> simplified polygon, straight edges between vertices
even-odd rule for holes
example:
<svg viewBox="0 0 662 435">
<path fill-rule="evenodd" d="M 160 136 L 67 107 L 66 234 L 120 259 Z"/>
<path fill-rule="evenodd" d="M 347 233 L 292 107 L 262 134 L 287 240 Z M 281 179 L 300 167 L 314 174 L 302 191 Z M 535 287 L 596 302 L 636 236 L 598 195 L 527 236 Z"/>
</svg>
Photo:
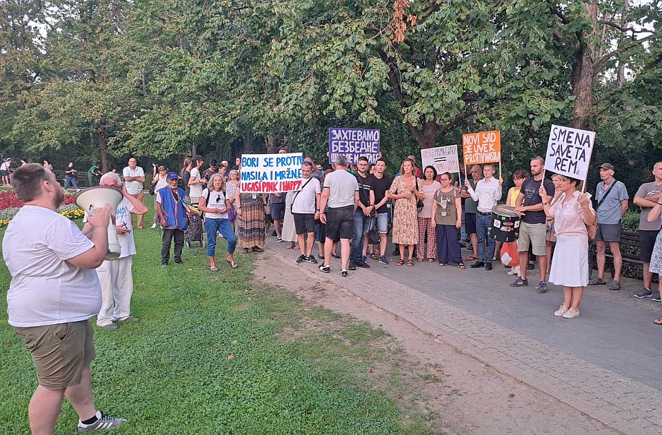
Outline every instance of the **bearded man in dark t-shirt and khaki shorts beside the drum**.
<svg viewBox="0 0 662 435">
<path fill-rule="evenodd" d="M 533 255 L 538 258 L 540 270 L 540 282 L 538 284 L 538 293 L 547 292 L 547 249 L 545 247 L 545 237 L 547 235 L 547 225 L 545 224 L 545 211 L 543 211 L 543 199 L 539 195 L 541 183 L 545 187 L 548 198 L 546 202 L 551 202 L 554 197 L 554 184 L 551 180 L 543 180 L 543 168 L 545 160 L 539 155 L 531 159 L 531 177 L 522 184 L 521 191 L 517 196 L 515 211 L 520 213 L 521 222 L 519 224 L 519 239 L 517 240 L 517 251 L 519 252 L 519 264 L 527 264 L 529 256 L 529 246 L 531 245 Z M 529 284 L 526 279 L 526 267 L 520 268 L 520 278 L 517 278 L 510 284 L 510 287 L 524 287 Z"/>
</svg>

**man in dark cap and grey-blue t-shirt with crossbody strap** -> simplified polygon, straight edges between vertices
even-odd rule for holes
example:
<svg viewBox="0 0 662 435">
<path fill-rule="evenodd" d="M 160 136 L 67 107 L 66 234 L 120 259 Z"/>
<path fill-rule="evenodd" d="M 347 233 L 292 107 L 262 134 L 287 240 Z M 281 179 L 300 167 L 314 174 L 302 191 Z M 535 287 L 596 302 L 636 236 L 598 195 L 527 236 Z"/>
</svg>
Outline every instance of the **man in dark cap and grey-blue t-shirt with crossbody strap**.
<svg viewBox="0 0 662 435">
<path fill-rule="evenodd" d="M 598 278 L 590 280 L 589 285 L 604 285 L 605 281 L 605 247 L 614 255 L 614 280 L 609 284 L 610 290 L 621 288 L 621 266 L 623 258 L 619 248 L 621 239 L 621 218 L 628 211 L 628 189 L 625 184 L 614 180 L 614 166 L 603 163 L 598 166 L 601 182 L 595 188 L 595 208 L 598 218 L 598 231 L 595 233 L 598 260 Z"/>
</svg>

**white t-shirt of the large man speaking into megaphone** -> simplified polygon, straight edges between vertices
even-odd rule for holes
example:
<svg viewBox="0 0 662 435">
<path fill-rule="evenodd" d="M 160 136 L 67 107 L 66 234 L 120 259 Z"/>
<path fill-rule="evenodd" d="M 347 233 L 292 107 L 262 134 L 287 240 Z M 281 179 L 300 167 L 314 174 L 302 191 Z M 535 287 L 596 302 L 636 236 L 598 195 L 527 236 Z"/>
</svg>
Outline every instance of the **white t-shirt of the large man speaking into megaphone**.
<svg viewBox="0 0 662 435">
<path fill-rule="evenodd" d="M 57 325 L 96 316 L 101 286 L 94 269 L 66 262 L 94 247 L 76 224 L 40 206 L 23 206 L 7 226 L 2 253 L 12 276 L 9 324 Z"/>
</svg>

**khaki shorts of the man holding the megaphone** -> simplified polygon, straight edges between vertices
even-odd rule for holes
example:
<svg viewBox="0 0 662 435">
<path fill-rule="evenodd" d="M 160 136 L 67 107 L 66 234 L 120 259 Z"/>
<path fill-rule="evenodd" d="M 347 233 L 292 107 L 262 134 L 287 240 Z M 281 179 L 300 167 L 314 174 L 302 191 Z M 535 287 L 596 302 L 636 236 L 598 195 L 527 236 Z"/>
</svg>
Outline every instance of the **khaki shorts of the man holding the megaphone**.
<svg viewBox="0 0 662 435">
<path fill-rule="evenodd" d="M 32 354 L 39 385 L 65 389 L 81 383 L 83 368 L 97 357 L 88 320 L 41 327 L 14 327 Z"/>
</svg>

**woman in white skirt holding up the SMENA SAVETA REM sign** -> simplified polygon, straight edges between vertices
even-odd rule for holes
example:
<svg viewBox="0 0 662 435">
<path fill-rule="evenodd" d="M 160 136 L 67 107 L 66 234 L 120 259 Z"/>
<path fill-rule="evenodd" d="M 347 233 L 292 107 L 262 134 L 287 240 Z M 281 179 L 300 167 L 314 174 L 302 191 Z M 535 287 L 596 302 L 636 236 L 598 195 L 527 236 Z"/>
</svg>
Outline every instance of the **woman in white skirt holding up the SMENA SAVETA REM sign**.
<svg viewBox="0 0 662 435">
<path fill-rule="evenodd" d="M 542 184 L 541 184 L 542 186 Z M 586 225 L 595 223 L 591 201 L 577 190 L 579 180 L 561 176 L 561 196 L 550 205 L 543 195 L 543 209 L 548 218 L 554 218 L 556 249 L 550 271 L 550 282 L 563 286 L 565 299 L 554 316 L 571 319 L 579 316 L 579 303 L 588 285 L 588 231 Z"/>
</svg>

